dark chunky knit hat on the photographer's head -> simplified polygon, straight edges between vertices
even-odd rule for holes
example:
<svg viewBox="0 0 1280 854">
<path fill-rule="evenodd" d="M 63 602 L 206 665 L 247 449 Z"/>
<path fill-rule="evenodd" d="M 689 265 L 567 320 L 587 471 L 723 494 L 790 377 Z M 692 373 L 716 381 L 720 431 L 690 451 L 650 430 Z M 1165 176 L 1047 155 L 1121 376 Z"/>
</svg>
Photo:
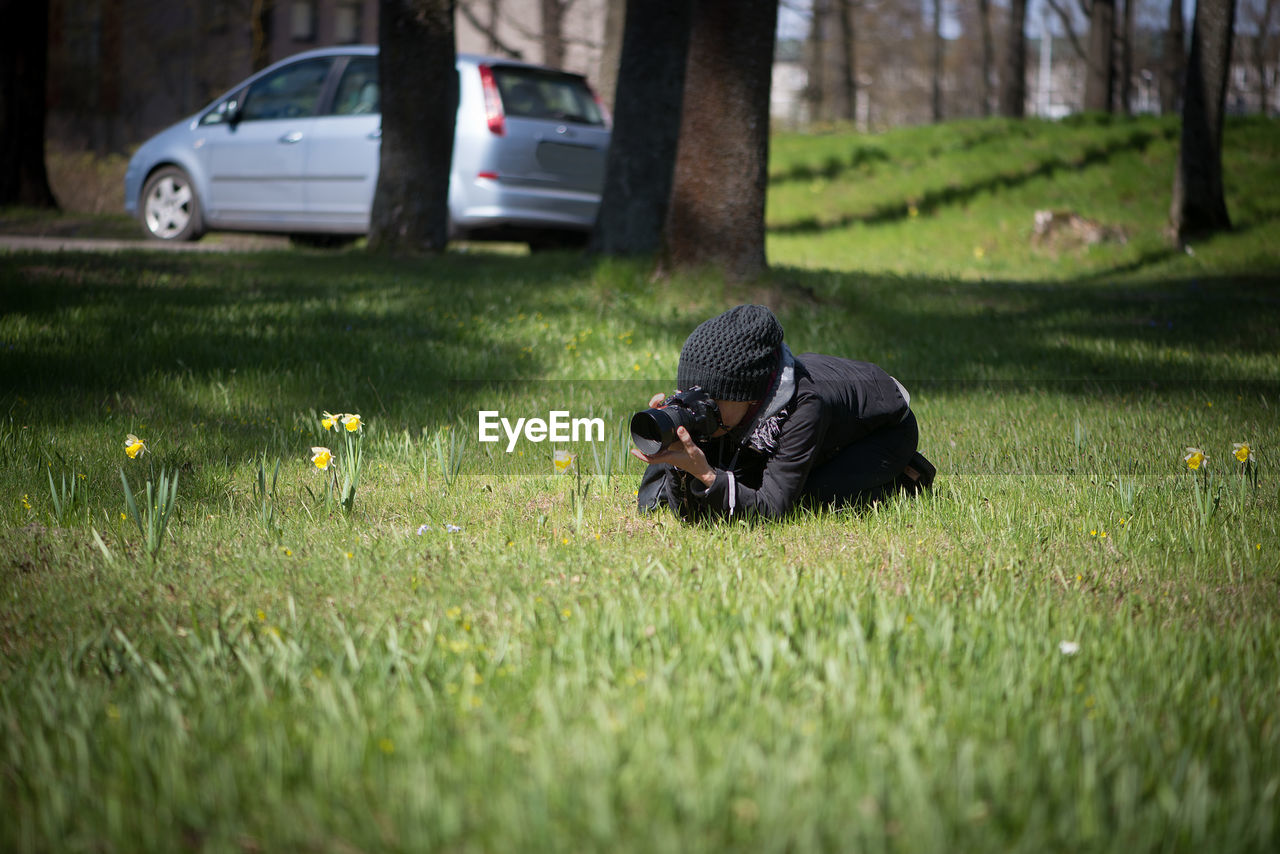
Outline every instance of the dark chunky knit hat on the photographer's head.
<svg viewBox="0 0 1280 854">
<path fill-rule="evenodd" d="M 782 324 L 764 306 L 737 306 L 704 321 L 680 351 L 676 388 L 700 385 L 719 401 L 758 401 L 782 355 Z"/>
</svg>

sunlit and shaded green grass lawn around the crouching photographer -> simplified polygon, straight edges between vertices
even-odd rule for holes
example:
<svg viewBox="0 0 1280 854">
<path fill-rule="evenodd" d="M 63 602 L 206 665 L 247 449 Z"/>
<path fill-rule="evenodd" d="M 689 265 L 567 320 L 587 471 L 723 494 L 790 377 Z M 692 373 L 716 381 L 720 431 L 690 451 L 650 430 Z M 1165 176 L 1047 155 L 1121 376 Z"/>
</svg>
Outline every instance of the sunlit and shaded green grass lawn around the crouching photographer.
<svg viewBox="0 0 1280 854">
<path fill-rule="evenodd" d="M 753 287 L 0 255 L 0 849 L 1274 850 L 1277 131 L 1229 127 L 1194 255 L 1156 122 L 781 137 Z M 931 494 L 636 517 L 622 420 L 746 300 L 911 388 Z M 609 429 L 556 476 L 479 408 Z M 349 515 L 321 410 L 365 420 Z M 155 560 L 122 469 L 179 475 Z"/>
</svg>

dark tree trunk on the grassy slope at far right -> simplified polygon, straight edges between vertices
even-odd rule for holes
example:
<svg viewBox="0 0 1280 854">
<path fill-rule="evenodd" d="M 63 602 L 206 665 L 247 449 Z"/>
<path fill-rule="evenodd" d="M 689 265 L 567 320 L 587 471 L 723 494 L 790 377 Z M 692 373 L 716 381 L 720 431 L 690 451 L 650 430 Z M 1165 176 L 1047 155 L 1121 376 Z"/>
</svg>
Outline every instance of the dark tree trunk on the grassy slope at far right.
<svg viewBox="0 0 1280 854">
<path fill-rule="evenodd" d="M 1235 0 L 1197 1 L 1169 214 L 1179 245 L 1231 227 L 1222 193 L 1222 114 L 1234 29 Z"/>
</svg>

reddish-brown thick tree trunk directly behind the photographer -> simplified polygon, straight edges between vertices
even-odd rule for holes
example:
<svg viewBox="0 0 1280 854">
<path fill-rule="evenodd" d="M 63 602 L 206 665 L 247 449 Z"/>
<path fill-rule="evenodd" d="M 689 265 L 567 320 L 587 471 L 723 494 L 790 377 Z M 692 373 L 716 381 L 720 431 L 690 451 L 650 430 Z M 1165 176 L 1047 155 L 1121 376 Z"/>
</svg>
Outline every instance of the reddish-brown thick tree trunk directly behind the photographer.
<svg viewBox="0 0 1280 854">
<path fill-rule="evenodd" d="M 685 74 L 667 261 L 754 279 L 764 257 L 769 83 L 778 0 L 698 0 Z"/>
</svg>

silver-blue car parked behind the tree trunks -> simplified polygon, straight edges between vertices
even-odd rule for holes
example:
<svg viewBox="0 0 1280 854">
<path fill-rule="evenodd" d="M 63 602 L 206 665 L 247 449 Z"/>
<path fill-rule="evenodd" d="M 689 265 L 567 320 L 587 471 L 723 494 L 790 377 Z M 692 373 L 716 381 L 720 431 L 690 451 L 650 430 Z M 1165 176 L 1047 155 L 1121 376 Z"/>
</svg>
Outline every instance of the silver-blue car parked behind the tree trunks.
<svg viewBox="0 0 1280 854">
<path fill-rule="evenodd" d="M 580 242 L 595 222 L 608 117 L 586 81 L 460 54 L 449 234 Z M 163 241 L 206 230 L 360 236 L 378 183 L 378 47 L 291 56 L 151 137 L 129 161 L 124 207 Z"/>
</svg>

